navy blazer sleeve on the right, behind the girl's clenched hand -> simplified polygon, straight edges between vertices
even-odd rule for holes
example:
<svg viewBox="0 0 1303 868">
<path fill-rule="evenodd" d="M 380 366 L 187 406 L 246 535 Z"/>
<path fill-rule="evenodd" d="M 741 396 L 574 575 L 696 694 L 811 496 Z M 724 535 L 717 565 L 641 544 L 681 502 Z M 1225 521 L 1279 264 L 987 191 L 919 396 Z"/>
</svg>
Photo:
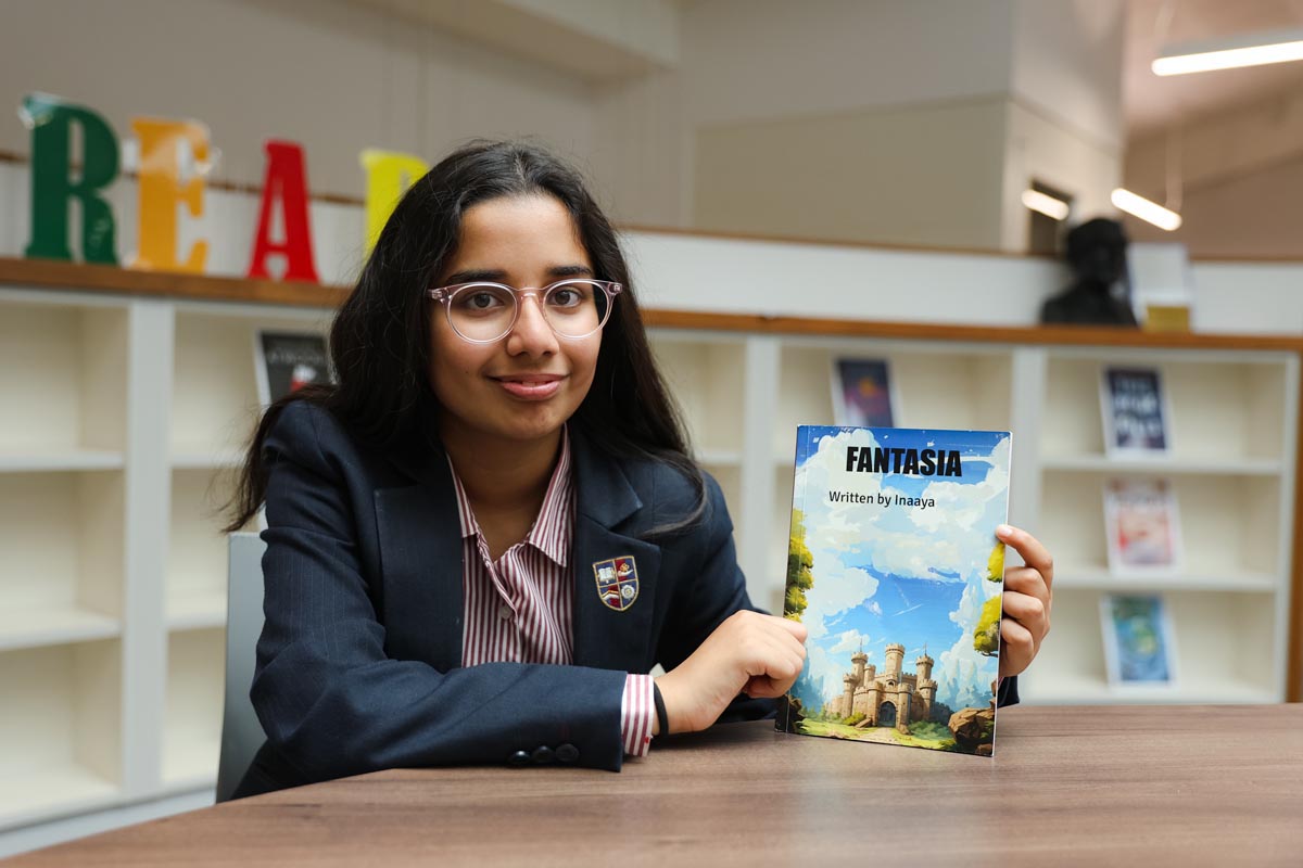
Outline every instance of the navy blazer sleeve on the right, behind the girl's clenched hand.
<svg viewBox="0 0 1303 868">
<path fill-rule="evenodd" d="M 702 523 L 681 544 L 676 544 L 680 557 L 675 562 L 684 575 L 679 579 L 658 647 L 658 661 L 666 671 L 687 660 L 731 614 L 743 609 L 764 612 L 747 593 L 747 578 L 737 566 L 732 521 L 723 492 L 710 474 L 702 471 L 702 476 L 706 483 Z M 718 722 L 771 717 L 775 711 L 775 700 L 741 694 L 724 709 Z"/>
</svg>

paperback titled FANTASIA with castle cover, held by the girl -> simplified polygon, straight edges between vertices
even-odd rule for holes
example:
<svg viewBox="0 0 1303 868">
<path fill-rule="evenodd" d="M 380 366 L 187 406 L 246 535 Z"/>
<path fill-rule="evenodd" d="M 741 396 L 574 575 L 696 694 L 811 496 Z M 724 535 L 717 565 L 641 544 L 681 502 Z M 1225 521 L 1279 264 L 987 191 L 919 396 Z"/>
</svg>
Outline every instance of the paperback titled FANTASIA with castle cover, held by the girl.
<svg viewBox="0 0 1303 868">
<path fill-rule="evenodd" d="M 778 730 L 994 752 L 1011 444 L 797 429 L 783 614 L 809 636 Z"/>
</svg>

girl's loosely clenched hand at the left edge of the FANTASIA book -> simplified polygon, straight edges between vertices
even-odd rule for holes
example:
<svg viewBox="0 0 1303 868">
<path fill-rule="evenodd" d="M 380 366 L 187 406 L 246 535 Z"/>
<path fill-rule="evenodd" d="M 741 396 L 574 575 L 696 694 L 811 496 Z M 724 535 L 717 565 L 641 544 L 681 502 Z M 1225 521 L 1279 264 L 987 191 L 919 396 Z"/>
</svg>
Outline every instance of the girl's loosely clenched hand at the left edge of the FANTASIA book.
<svg viewBox="0 0 1303 868">
<path fill-rule="evenodd" d="M 691 657 L 655 679 L 671 733 L 693 733 L 718 720 L 737 694 L 782 696 L 805 665 L 805 627 L 796 621 L 736 612 Z M 659 725 L 653 725 L 653 735 Z"/>
</svg>

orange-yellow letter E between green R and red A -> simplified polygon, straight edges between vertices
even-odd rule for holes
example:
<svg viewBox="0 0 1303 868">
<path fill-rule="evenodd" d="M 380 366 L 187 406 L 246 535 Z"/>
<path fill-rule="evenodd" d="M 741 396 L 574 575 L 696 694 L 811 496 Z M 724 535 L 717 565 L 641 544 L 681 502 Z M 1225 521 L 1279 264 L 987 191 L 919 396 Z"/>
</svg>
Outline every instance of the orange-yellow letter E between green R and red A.
<svg viewBox="0 0 1303 868">
<path fill-rule="evenodd" d="M 181 182 L 180 146 L 186 142 L 195 164 L 208 159 L 208 131 L 194 121 L 132 118 L 141 142 L 141 238 L 134 268 L 202 272 L 208 242 L 197 241 L 184 263 L 176 252 L 176 204 L 184 202 L 192 217 L 203 216 L 203 176 Z"/>
</svg>

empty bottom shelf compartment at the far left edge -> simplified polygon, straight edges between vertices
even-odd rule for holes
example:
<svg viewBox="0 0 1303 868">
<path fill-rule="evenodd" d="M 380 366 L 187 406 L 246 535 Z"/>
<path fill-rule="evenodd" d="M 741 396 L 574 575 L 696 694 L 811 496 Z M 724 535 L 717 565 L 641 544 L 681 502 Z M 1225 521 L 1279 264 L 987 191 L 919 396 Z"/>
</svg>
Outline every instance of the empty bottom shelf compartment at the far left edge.
<svg viewBox="0 0 1303 868">
<path fill-rule="evenodd" d="M 0 653 L 0 828 L 120 796 L 117 640 Z"/>
</svg>

